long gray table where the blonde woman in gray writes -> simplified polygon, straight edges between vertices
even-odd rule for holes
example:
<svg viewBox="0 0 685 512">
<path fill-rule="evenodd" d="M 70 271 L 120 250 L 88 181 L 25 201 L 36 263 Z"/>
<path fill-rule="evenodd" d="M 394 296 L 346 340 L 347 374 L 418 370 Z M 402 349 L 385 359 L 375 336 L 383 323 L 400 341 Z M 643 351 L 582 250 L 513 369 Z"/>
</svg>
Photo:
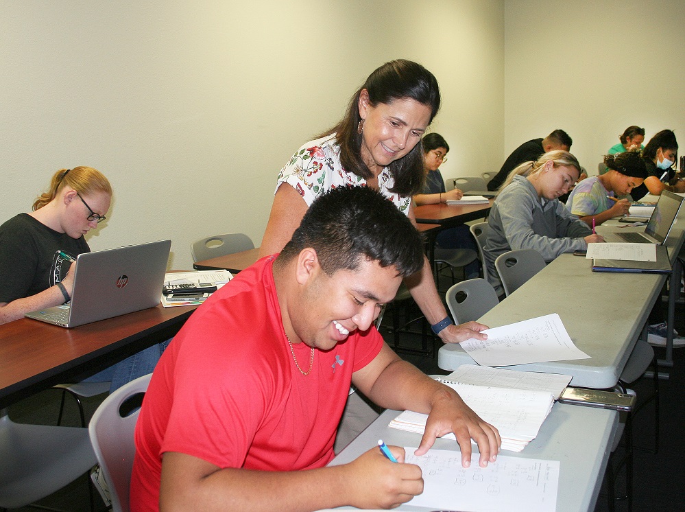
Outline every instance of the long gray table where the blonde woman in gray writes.
<svg viewBox="0 0 685 512">
<path fill-rule="evenodd" d="M 600 234 L 601 228 L 603 226 L 598 228 Z M 676 267 L 684 237 L 685 232 L 674 227 L 666 242 L 671 263 Z M 571 384 L 574 386 L 612 388 L 618 382 L 652 307 L 661 299 L 666 279 L 669 275 L 592 272 L 592 259 L 562 254 L 479 321 L 488 327 L 500 327 L 546 314 L 559 314 L 571 340 L 590 359 L 520 364 L 507 366 L 507 369 L 562 373 L 573 376 Z M 679 277 L 671 286 L 669 297 L 671 327 L 678 290 Z M 440 347 L 438 366 L 441 369 L 453 371 L 461 364 L 475 362 L 459 345 Z"/>
</svg>

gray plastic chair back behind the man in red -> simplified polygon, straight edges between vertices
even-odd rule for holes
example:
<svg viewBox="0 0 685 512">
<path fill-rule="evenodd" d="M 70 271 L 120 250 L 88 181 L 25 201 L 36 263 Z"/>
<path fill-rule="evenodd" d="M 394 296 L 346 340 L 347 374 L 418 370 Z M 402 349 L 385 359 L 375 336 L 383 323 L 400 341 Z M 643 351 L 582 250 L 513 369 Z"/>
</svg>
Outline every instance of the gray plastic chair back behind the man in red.
<svg viewBox="0 0 685 512">
<path fill-rule="evenodd" d="M 152 373 L 121 386 L 95 410 L 88 433 L 105 481 L 110 488 L 113 512 L 128 512 L 133 457 L 133 434 L 140 413 L 139 404 Z M 132 404 L 134 402 L 134 404 Z"/>
</svg>

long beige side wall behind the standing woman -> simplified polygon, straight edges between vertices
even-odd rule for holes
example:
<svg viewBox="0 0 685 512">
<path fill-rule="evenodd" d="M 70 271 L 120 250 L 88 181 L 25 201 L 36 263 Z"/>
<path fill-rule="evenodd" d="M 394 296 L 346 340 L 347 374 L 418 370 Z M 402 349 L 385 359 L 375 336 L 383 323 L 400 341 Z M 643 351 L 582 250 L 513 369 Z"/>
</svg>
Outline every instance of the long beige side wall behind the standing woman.
<svg viewBox="0 0 685 512">
<path fill-rule="evenodd" d="M 197 237 L 256 244 L 275 178 L 394 58 L 437 76 L 446 174 L 503 146 L 502 1 L 55 1 L 0 3 L 0 219 L 28 211 L 60 167 L 91 165 L 115 200 L 91 248 Z"/>
</svg>

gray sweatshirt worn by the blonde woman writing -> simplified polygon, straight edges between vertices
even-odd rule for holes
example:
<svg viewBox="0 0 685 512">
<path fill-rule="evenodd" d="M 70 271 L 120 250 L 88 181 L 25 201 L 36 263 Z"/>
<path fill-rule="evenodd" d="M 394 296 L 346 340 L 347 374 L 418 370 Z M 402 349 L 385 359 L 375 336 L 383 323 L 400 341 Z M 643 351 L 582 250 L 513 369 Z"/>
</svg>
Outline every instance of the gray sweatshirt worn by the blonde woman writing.
<svg viewBox="0 0 685 512">
<path fill-rule="evenodd" d="M 488 217 L 488 238 L 483 255 L 488 279 L 498 295 L 504 293 L 494 268 L 499 255 L 514 249 L 535 249 L 549 263 L 562 253 L 585 251 L 584 237 L 592 234 L 588 224 L 572 215 L 556 199 L 540 199 L 533 184 L 523 176 L 497 196 Z"/>
</svg>

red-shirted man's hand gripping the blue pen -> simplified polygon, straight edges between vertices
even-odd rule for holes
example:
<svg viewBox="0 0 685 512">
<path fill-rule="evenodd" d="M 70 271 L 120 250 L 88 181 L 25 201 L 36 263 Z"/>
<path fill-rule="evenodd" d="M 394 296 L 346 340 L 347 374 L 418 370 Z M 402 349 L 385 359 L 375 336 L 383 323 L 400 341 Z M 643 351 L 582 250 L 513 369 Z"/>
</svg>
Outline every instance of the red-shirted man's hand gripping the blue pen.
<svg viewBox="0 0 685 512">
<path fill-rule="evenodd" d="M 405 464 L 405 450 L 389 446 L 398 460 L 390 462 L 374 447 L 347 466 L 354 485 L 350 485 L 350 504 L 360 509 L 392 509 L 423 492 L 421 468 Z"/>
</svg>

